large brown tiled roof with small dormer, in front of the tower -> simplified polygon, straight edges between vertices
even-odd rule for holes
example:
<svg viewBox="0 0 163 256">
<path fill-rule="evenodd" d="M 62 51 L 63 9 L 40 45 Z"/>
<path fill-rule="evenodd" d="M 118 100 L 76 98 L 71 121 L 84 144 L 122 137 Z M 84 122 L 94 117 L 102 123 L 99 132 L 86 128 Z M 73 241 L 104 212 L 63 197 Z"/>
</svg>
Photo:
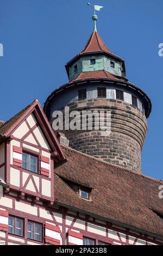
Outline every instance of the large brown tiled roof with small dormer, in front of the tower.
<svg viewBox="0 0 163 256">
<path fill-rule="evenodd" d="M 55 200 L 90 215 L 163 236 L 161 181 L 62 147 L 68 162 L 54 171 Z M 92 201 L 79 198 L 70 182 L 92 188 Z"/>
</svg>

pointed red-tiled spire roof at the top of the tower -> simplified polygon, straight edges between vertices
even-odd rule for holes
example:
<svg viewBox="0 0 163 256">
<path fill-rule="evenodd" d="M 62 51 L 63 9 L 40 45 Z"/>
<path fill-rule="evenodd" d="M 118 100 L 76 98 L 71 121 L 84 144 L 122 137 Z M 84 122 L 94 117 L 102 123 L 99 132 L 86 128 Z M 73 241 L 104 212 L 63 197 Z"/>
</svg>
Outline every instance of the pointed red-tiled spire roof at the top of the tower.
<svg viewBox="0 0 163 256">
<path fill-rule="evenodd" d="M 87 41 L 83 51 L 81 53 L 104 51 L 112 53 L 110 49 L 104 44 L 98 32 L 93 31 L 89 40 Z"/>
</svg>

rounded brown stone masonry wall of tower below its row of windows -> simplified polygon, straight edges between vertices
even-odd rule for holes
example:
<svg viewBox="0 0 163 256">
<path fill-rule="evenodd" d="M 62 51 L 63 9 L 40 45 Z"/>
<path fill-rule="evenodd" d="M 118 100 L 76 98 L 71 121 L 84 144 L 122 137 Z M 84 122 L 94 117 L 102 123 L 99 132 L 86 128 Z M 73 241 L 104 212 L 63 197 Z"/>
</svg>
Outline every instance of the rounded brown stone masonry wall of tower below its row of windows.
<svg viewBox="0 0 163 256">
<path fill-rule="evenodd" d="M 64 131 L 70 140 L 70 147 L 111 164 L 141 172 L 141 150 L 147 134 L 147 120 L 143 112 L 133 105 L 111 99 L 80 100 L 69 106 L 70 111 L 111 111 L 109 136 L 95 130 Z"/>
</svg>

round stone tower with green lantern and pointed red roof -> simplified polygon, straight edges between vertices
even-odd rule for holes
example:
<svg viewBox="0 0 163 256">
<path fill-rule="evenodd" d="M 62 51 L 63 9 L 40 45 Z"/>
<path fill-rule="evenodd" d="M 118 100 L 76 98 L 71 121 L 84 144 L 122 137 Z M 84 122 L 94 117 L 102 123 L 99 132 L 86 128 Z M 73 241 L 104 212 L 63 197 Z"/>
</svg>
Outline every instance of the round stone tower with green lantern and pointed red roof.
<svg viewBox="0 0 163 256">
<path fill-rule="evenodd" d="M 123 168 L 141 172 L 151 100 L 126 78 L 125 63 L 104 44 L 95 28 L 83 51 L 66 64 L 69 82 L 47 98 L 44 111 L 53 122 L 55 110 L 111 111 L 111 133 L 64 130 L 70 147 Z M 95 121 L 95 120 L 94 120 Z M 60 130 L 60 132 L 63 132 Z"/>
</svg>

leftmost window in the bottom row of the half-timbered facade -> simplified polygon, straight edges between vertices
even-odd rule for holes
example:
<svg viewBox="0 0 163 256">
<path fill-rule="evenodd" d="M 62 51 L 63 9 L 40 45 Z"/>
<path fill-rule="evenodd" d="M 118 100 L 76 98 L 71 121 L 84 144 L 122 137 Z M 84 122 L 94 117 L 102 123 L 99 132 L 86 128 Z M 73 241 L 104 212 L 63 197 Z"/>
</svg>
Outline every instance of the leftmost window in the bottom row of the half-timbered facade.
<svg viewBox="0 0 163 256">
<path fill-rule="evenodd" d="M 22 218 L 9 216 L 9 233 L 17 236 L 23 236 L 24 221 Z"/>
</svg>

